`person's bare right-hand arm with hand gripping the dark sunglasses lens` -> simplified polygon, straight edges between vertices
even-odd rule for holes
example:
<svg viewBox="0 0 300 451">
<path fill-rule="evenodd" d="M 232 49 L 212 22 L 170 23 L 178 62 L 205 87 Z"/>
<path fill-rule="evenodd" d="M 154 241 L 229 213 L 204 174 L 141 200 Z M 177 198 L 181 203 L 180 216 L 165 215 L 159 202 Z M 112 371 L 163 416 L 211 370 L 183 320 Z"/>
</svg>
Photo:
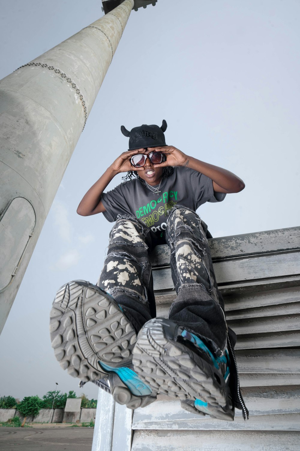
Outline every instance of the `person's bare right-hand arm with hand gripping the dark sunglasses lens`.
<svg viewBox="0 0 300 451">
<path fill-rule="evenodd" d="M 204 161 L 197 160 L 193 156 L 188 156 L 184 152 L 173 146 L 155 147 L 152 151 L 164 152 L 166 154 L 166 161 L 159 166 L 184 166 L 201 172 L 201 174 L 209 177 L 213 182 L 214 191 L 217 193 L 238 193 L 245 188 L 245 184 L 227 169 L 214 166 Z M 150 150 L 150 148 L 148 149 Z"/>
</svg>

